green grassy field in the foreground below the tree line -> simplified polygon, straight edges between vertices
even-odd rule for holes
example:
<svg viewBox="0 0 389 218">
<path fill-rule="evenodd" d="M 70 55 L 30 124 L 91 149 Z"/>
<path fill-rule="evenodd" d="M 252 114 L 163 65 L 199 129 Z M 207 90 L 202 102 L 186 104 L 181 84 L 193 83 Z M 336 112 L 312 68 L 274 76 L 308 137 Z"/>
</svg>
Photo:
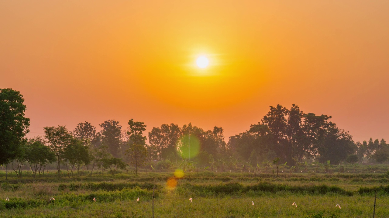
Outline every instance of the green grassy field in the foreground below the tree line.
<svg viewBox="0 0 389 218">
<path fill-rule="evenodd" d="M 350 165 L 344 173 L 338 173 L 338 166 L 330 173 L 314 170 L 280 171 L 278 177 L 270 170 L 196 170 L 182 178 L 174 170 L 114 176 L 82 172 L 70 178 L 49 171 L 35 180 L 31 171 L 22 179 L 9 171 L 8 180 L 0 171 L 0 217 L 152 217 L 153 188 L 154 217 L 366 218 L 373 217 L 376 191 L 375 217 L 389 217 L 385 165 Z"/>
</svg>

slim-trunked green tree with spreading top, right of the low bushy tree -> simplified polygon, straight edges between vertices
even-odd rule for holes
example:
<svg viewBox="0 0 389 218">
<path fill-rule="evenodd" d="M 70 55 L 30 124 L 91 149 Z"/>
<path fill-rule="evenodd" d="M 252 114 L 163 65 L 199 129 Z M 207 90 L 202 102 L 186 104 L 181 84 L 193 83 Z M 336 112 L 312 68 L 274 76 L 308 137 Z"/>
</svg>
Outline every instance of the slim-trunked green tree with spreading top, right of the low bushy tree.
<svg viewBox="0 0 389 218">
<path fill-rule="evenodd" d="M 60 177 L 61 163 L 64 159 L 65 148 L 72 142 L 73 136 L 66 126 L 46 126 L 43 128 L 49 148 L 57 159 L 58 177 Z"/>
</svg>

